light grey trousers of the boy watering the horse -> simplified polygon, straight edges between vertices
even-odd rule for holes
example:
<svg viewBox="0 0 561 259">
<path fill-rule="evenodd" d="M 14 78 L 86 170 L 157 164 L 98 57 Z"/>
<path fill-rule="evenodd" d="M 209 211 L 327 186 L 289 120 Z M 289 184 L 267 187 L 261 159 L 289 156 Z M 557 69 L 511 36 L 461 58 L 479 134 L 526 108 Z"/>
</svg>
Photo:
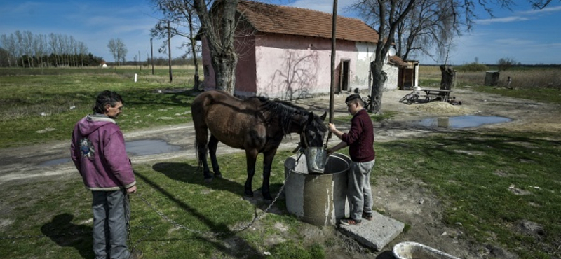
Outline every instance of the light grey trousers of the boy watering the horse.
<svg viewBox="0 0 561 259">
<path fill-rule="evenodd" d="M 370 187 L 370 172 L 374 161 L 351 162 L 347 189 L 351 202 L 351 218 L 360 220 L 365 214 L 372 213 L 372 188 Z"/>
</svg>

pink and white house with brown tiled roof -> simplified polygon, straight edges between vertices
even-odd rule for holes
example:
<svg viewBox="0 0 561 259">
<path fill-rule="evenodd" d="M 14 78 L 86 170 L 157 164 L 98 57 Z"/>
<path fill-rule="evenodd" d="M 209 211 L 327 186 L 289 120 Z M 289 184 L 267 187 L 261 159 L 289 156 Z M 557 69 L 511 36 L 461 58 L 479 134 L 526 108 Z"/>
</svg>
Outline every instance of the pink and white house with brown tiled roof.
<svg viewBox="0 0 561 259">
<path fill-rule="evenodd" d="M 239 1 L 236 29 L 237 96 L 299 99 L 330 92 L 332 15 L 316 10 Z M 337 17 L 335 92 L 368 91 L 372 85 L 379 34 L 363 21 Z M 205 38 L 205 89 L 215 88 L 215 74 Z M 396 89 L 401 59 L 384 66 L 385 87 Z"/>
</svg>

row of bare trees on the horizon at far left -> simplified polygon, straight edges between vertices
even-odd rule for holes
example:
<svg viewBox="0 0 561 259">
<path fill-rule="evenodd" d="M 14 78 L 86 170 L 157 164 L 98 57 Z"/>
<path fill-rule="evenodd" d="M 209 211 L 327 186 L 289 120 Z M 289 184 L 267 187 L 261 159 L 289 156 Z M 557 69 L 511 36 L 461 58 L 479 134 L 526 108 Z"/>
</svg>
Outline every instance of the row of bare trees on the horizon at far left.
<svg viewBox="0 0 561 259">
<path fill-rule="evenodd" d="M 58 67 L 99 66 L 103 61 L 73 36 L 15 31 L 0 35 L 0 66 Z"/>
</svg>

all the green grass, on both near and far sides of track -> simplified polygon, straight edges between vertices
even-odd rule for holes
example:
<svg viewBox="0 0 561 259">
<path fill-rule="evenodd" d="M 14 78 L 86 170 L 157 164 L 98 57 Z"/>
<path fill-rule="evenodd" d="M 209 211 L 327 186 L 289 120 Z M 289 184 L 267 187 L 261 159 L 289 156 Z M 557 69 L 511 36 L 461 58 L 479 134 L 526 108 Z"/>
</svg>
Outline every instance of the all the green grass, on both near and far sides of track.
<svg viewBox="0 0 561 259">
<path fill-rule="evenodd" d="M 133 83 L 130 68 L 103 73 L 97 72 L 100 69 L 68 69 L 61 74 L 45 70 L 0 72 L 5 75 L 0 77 L 5 93 L 0 97 L 0 148 L 67 140 L 76 120 L 90 112 L 95 94 L 105 89 L 116 90 L 125 97 L 123 115 L 127 116 L 119 120 L 123 131 L 189 121 L 186 112 L 193 98 L 190 92 L 155 91 L 190 89 L 192 79 L 188 72 L 168 83 L 165 69 L 161 69 L 160 76 L 143 75 Z M 427 74 L 423 80 L 440 79 Z M 511 90 L 469 82 L 459 85 L 561 103 L 558 90 L 552 87 Z M 70 106 L 76 108 L 69 109 Z M 48 116 L 38 114 L 43 111 Z M 337 117 L 334 123 L 348 121 L 348 117 Z M 49 137 L 39 133 L 48 128 L 54 129 Z M 372 181 L 380 175 L 421 179 L 444 202 L 445 223 L 460 228 L 468 239 L 502 246 L 521 259 L 559 258 L 560 144 L 559 134 L 508 130 L 455 131 L 377 143 Z M 283 162 L 290 155 L 289 151 L 276 155 L 271 177 L 273 194 L 280 190 Z M 264 251 L 270 252 L 271 258 L 326 257 L 334 241 L 305 240 L 302 229 L 306 224 L 286 213 L 283 200 L 275 205 L 283 213 L 266 214 L 257 221 L 259 228 L 255 230 L 220 237 L 194 233 L 192 230 L 207 233 L 240 228 L 252 221 L 256 211 L 265 208 L 265 204 L 255 205 L 241 198 L 245 181 L 243 153 L 222 155 L 219 161 L 228 161 L 221 163 L 225 179 L 216 179 L 210 185 L 203 183 L 194 160 L 135 165 L 142 197 L 189 229 L 163 220 L 133 195 L 131 237 L 147 258 L 265 258 Z M 256 170 L 261 172 L 262 168 Z M 260 186 L 259 174 L 253 184 Z M 57 186 L 56 192 L 53 186 Z M 529 194 L 515 195 L 515 188 Z M 0 258 L 93 258 L 89 234 L 58 235 L 91 230 L 90 193 L 83 188 L 79 176 L 4 184 L 0 196 Z M 541 225 L 543 235 L 523 232 L 520 225 L 525 221 Z"/>
</svg>

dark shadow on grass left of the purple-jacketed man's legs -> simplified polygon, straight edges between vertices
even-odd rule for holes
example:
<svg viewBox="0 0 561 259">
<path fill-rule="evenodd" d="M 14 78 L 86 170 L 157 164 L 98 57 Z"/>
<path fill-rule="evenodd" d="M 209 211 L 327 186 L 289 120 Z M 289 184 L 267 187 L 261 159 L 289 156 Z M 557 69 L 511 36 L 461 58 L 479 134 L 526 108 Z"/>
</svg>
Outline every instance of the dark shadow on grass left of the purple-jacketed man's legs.
<svg viewBox="0 0 561 259">
<path fill-rule="evenodd" d="M 41 227 L 41 232 L 58 246 L 74 247 L 81 258 L 93 258 L 92 227 L 72 223 L 71 214 L 58 214 L 53 220 Z"/>
</svg>

